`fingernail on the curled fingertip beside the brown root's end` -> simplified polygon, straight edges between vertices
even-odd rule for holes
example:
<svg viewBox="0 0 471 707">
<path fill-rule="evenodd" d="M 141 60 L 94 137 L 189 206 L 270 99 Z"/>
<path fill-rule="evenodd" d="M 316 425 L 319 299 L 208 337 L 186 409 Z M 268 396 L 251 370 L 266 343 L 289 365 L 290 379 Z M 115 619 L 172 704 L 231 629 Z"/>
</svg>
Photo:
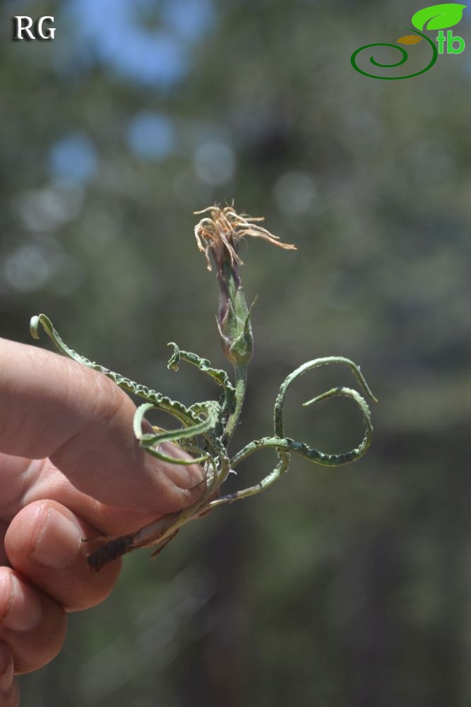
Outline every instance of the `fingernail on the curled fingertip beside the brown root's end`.
<svg viewBox="0 0 471 707">
<path fill-rule="evenodd" d="M 50 508 L 40 530 L 32 558 L 54 570 L 67 567 L 76 559 L 81 547 L 81 532 L 59 510 Z"/>
</svg>

